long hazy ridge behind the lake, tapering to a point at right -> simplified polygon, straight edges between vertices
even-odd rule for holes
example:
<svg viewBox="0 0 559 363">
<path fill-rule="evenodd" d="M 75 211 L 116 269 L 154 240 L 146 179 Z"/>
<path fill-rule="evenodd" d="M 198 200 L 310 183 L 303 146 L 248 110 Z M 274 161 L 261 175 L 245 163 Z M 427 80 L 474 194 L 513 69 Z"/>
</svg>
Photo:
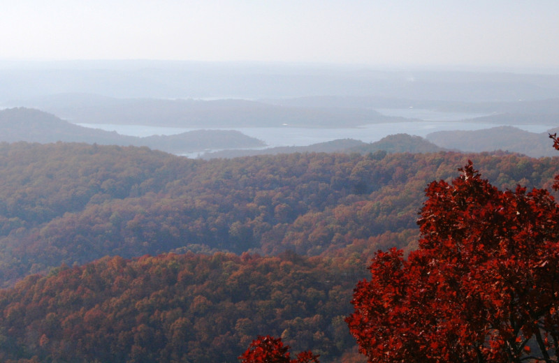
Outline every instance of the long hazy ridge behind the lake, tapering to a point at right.
<svg viewBox="0 0 559 363">
<path fill-rule="evenodd" d="M 78 98 L 75 95 L 68 97 L 71 100 Z M 364 108 L 289 107 L 240 99 L 117 99 L 80 95 L 78 103 L 66 101 L 65 96 L 57 96 L 55 102 L 52 100 L 50 97 L 46 100 L 20 101 L 20 104 L 51 112 L 76 124 L 132 124 L 184 128 L 285 125 L 336 128 L 399 119 Z"/>
</svg>

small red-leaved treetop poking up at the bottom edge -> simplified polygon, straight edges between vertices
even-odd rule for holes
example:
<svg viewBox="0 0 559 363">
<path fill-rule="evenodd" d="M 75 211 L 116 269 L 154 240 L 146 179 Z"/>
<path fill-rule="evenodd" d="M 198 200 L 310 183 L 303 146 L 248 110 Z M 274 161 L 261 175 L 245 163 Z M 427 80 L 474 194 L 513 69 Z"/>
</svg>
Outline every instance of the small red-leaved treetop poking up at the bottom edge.
<svg viewBox="0 0 559 363">
<path fill-rule="evenodd" d="M 319 356 L 311 352 L 301 352 L 297 358 L 289 357 L 289 346 L 284 346 L 281 338 L 259 336 L 239 359 L 242 363 L 319 363 Z"/>
</svg>

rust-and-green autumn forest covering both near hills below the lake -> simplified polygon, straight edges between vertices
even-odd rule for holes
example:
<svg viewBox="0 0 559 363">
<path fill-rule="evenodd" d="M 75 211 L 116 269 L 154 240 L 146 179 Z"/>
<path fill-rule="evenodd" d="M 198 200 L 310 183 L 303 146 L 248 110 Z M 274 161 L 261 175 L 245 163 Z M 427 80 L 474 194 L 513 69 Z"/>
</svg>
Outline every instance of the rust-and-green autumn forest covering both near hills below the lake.
<svg viewBox="0 0 559 363">
<path fill-rule="evenodd" d="M 1 360 L 238 362 L 262 343 L 282 359 L 288 346 L 299 362 L 362 362 L 344 321 L 357 281 L 378 250 L 401 249 L 377 255 L 398 260 L 426 245 L 426 186 L 468 160 L 500 190 L 552 190 L 559 170 L 558 158 L 503 152 L 203 161 L 2 143 Z"/>
</svg>

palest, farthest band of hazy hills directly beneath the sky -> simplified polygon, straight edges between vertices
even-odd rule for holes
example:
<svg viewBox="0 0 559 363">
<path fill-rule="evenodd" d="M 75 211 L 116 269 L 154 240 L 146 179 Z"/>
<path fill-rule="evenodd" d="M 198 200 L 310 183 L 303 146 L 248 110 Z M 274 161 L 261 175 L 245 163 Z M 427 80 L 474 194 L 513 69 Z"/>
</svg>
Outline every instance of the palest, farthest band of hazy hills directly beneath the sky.
<svg viewBox="0 0 559 363">
<path fill-rule="evenodd" d="M 462 102 L 559 97 L 559 75 L 272 62 L 5 61 L 0 63 L 0 80 L 0 102 L 73 93 L 247 99 L 337 95 Z"/>
</svg>

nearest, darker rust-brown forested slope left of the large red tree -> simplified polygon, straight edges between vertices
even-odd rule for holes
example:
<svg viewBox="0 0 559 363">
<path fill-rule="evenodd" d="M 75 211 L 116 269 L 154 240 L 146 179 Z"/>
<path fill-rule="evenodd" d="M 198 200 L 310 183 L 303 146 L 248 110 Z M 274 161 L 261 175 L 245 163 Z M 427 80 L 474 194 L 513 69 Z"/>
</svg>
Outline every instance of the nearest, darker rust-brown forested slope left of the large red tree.
<svg viewBox="0 0 559 363">
<path fill-rule="evenodd" d="M 2 362 L 237 362 L 258 334 L 333 362 L 360 266 L 296 255 L 103 258 L 0 291 Z M 351 274 L 351 279 L 347 275 Z"/>
</svg>

